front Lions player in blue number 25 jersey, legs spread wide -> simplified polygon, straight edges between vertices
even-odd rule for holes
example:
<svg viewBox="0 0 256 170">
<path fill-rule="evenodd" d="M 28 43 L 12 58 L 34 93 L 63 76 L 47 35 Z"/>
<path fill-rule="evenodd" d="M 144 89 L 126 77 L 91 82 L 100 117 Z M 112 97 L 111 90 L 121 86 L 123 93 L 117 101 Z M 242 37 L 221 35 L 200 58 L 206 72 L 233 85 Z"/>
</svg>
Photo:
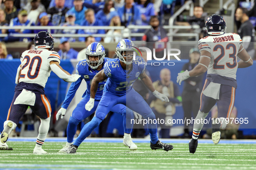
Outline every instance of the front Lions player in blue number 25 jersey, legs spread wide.
<svg viewBox="0 0 256 170">
<path fill-rule="evenodd" d="M 133 60 L 133 47 L 134 44 L 129 39 L 123 39 L 117 44 L 117 59 L 112 59 L 104 64 L 104 69 L 98 72 L 94 76 L 91 83 L 91 98 L 85 105 L 85 109 L 90 111 L 95 107 L 96 92 L 99 83 L 107 82 L 104 86 L 104 93 L 98 104 L 95 116 L 91 122 L 87 123 L 81 131 L 85 139 L 91 134 L 94 128 L 96 128 L 102 120 L 104 120 L 107 113 L 116 104 L 125 104 L 131 110 L 141 114 L 145 119 L 155 120 L 156 116 L 150 109 L 149 105 L 133 88 L 133 82 L 140 77 L 144 84 L 149 88 L 150 91 L 162 101 L 169 101 L 169 98 L 164 94 L 159 93 L 155 90 L 152 85 L 152 81 L 144 72 L 146 62 L 142 57 L 136 57 Z M 131 113 L 126 114 L 131 116 Z M 127 124 L 128 125 L 128 124 Z M 150 134 L 150 148 L 151 149 L 162 149 L 165 151 L 172 150 L 173 146 L 162 143 L 158 140 L 157 125 L 154 123 L 148 123 L 148 130 Z M 81 135 L 81 134 L 80 134 Z M 68 148 L 68 153 L 76 153 L 80 142 L 75 140 L 74 144 Z"/>
</svg>

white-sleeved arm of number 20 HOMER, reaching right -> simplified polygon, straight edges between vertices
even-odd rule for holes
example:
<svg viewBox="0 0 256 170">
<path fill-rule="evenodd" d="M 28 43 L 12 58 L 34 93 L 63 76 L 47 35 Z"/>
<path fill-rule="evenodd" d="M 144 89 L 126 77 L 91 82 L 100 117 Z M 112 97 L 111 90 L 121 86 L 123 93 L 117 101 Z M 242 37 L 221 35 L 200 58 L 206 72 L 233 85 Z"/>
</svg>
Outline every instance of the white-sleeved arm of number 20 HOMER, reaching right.
<svg viewBox="0 0 256 170">
<path fill-rule="evenodd" d="M 70 75 L 65 69 L 59 65 L 57 61 L 50 61 L 52 71 L 65 82 L 76 82 L 81 76 L 78 74 Z"/>
</svg>

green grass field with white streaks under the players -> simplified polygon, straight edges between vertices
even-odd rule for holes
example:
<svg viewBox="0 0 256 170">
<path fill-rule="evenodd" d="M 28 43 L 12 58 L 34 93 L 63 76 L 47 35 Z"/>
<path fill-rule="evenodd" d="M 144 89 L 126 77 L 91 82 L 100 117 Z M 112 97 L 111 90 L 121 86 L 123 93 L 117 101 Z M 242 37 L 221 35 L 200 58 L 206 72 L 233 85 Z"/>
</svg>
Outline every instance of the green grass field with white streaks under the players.
<svg viewBox="0 0 256 170">
<path fill-rule="evenodd" d="M 59 154 L 64 142 L 45 142 L 48 154 L 32 154 L 35 142 L 7 142 L 13 151 L 0 151 L 0 169 L 256 169 L 256 144 L 174 143 L 172 151 L 152 151 L 149 143 L 136 143 L 130 151 L 122 143 L 87 143 L 77 154 Z"/>
</svg>

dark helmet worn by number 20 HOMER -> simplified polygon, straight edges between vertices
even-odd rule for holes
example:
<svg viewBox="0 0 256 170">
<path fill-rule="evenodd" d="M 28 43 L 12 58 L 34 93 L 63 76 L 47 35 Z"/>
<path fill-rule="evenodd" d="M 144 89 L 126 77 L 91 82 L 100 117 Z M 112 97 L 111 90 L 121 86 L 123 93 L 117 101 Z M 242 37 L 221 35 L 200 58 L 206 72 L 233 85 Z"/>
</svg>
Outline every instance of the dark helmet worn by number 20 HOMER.
<svg viewBox="0 0 256 170">
<path fill-rule="evenodd" d="M 54 39 L 52 38 L 52 35 L 47 31 L 40 31 L 37 33 L 37 35 L 34 38 L 35 48 L 50 48 L 50 50 L 53 50 L 54 46 Z"/>
</svg>

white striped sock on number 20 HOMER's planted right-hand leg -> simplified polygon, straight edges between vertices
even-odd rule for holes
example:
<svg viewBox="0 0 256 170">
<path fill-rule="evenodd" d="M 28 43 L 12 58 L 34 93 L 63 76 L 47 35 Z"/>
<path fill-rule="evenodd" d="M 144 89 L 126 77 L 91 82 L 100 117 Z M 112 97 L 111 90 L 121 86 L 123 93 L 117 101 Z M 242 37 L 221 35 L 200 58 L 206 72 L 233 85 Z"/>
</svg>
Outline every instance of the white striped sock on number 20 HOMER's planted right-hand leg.
<svg viewBox="0 0 256 170">
<path fill-rule="evenodd" d="M 42 147 L 45 142 L 46 135 L 49 131 L 51 116 L 47 119 L 40 119 L 39 134 L 36 139 L 36 147 Z"/>
</svg>

